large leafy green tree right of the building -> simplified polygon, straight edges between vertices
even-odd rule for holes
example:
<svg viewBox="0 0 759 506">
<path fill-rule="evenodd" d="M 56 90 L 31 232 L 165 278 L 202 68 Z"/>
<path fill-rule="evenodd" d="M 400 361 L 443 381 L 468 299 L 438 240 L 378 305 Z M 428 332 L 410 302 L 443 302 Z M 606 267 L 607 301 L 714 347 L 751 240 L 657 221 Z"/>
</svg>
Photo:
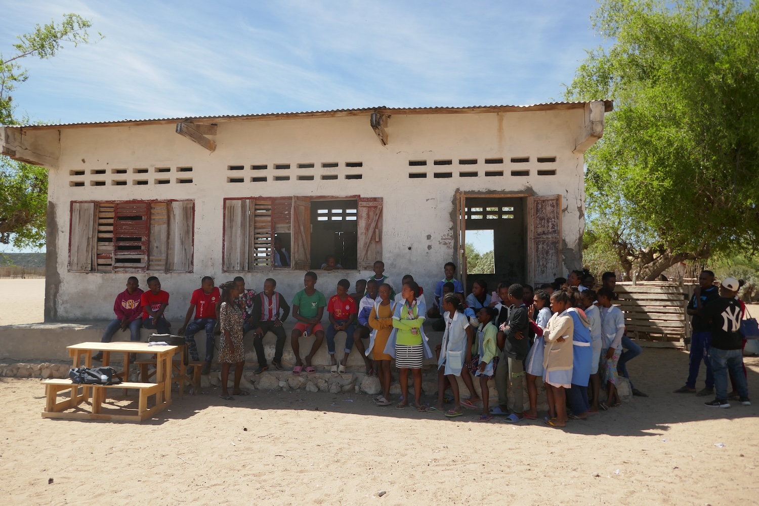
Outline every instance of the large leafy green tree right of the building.
<svg viewBox="0 0 759 506">
<path fill-rule="evenodd" d="M 592 21 L 611 43 L 587 52 L 565 94 L 615 103 L 586 153 L 592 254 L 654 279 L 756 252 L 757 2 L 602 0 Z"/>
</svg>

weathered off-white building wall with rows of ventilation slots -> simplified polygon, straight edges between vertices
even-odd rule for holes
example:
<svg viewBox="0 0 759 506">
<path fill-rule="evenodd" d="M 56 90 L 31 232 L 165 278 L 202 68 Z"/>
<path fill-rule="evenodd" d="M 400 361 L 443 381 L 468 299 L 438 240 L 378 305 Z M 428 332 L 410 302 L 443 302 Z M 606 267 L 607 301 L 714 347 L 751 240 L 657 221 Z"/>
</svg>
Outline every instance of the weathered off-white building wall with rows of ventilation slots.
<svg viewBox="0 0 759 506">
<path fill-rule="evenodd" d="M 397 286 L 411 272 L 431 294 L 442 276 L 442 265 L 456 261 L 452 222 L 456 190 L 561 194 L 562 234 L 565 267 L 580 265 L 578 250 L 583 229 L 583 157 L 573 154 L 575 140 L 584 122 L 583 109 L 550 112 L 508 112 L 458 115 L 395 115 L 389 120 L 389 145 L 382 146 L 370 127 L 369 115 L 344 118 L 231 121 L 219 123 L 215 152 L 209 152 L 175 133 L 175 125 L 133 127 L 84 127 L 61 130 L 59 168 L 51 169 L 49 200 L 55 224 L 49 234 L 49 255 L 56 255 L 57 275 L 48 276 L 48 297 L 55 300 L 57 319 L 96 319 L 112 316 L 112 301 L 122 290 L 128 274 L 68 272 L 69 209 L 72 200 L 195 200 L 194 273 L 158 274 L 171 294 L 167 310 L 170 320 L 184 317 L 191 291 L 200 277 L 212 275 L 217 282 L 235 273 L 222 272 L 222 199 L 238 196 L 381 196 L 384 199 L 383 260 L 386 273 Z M 512 156 L 529 156 L 529 163 L 510 163 Z M 537 157 L 556 156 L 555 163 L 538 164 Z M 503 158 L 502 165 L 485 165 L 486 158 Z M 409 160 L 426 159 L 428 165 L 410 167 Z M 433 165 L 435 159 L 452 159 L 453 165 Z M 458 165 L 458 159 L 477 159 L 477 165 Z M 323 162 L 339 162 L 338 168 L 321 168 Z M 363 162 L 361 168 L 346 168 L 345 162 Z M 273 169 L 289 163 L 288 171 Z M 298 163 L 315 168 L 298 169 Z M 266 171 L 251 171 L 250 165 L 266 164 Z M 244 165 L 244 171 L 228 171 L 228 165 Z M 192 172 L 177 172 L 191 166 Z M 158 174 L 156 167 L 170 167 Z M 112 174 L 126 168 L 128 174 Z M 148 168 L 148 174 L 134 174 Z M 538 168 L 556 168 L 555 176 L 537 176 Z M 105 175 L 90 171 L 106 169 Z M 513 169 L 529 169 L 529 177 L 512 177 Z M 70 171 L 83 170 L 84 176 Z M 485 170 L 503 170 L 503 177 L 485 178 Z M 426 171 L 426 179 L 409 179 L 409 172 Z M 452 171 L 453 178 L 436 179 L 433 172 Z M 459 178 L 458 171 L 479 171 L 477 178 Z M 227 183 L 227 178 L 245 178 L 244 183 Z M 290 181 L 272 181 L 274 175 L 291 176 Z M 315 181 L 296 181 L 298 174 L 314 174 Z M 339 174 L 337 181 L 320 181 L 321 174 Z M 361 180 L 345 180 L 344 174 L 363 174 Z M 251 176 L 266 175 L 266 183 L 250 183 Z M 192 184 L 177 184 L 191 177 Z M 150 184 L 135 186 L 134 179 Z M 156 178 L 171 184 L 156 185 Z M 126 186 L 112 180 L 126 179 Z M 84 181 L 84 187 L 71 187 Z M 90 181 L 106 181 L 91 186 Z M 50 237 L 50 236 L 53 237 Z M 246 273 L 249 287 L 260 290 L 263 279 L 272 275 L 288 299 L 302 288 L 303 272 Z M 151 273 L 141 273 L 140 285 Z M 367 277 L 370 272 L 320 273 L 317 288 L 328 297 L 336 281 Z M 50 306 L 50 303 L 48 304 Z"/>
</svg>

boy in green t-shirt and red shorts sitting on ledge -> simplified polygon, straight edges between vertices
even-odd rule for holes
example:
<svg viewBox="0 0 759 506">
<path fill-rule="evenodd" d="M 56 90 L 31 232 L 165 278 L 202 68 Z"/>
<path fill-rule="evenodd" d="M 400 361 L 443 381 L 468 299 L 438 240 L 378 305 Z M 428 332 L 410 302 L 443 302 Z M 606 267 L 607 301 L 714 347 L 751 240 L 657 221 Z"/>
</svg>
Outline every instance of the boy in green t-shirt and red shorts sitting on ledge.
<svg viewBox="0 0 759 506">
<path fill-rule="evenodd" d="M 324 299 L 324 294 L 314 288 L 317 284 L 317 273 L 306 272 L 303 277 L 304 289 L 295 294 L 292 298 L 292 316 L 298 320 L 292 329 L 290 335 L 290 344 L 292 345 L 293 353 L 295 354 L 295 366 L 292 369 L 292 373 L 295 375 L 301 374 L 303 370 L 303 361 L 301 361 L 301 347 L 298 343 L 298 339 L 301 335 L 307 337 L 313 334 L 316 338 L 311 346 L 311 351 L 304 358 L 306 362 L 306 372 L 313 374 L 317 372 L 311 365 L 313 356 L 317 354 L 317 350 L 322 345 L 324 340 L 324 327 L 322 326 L 322 318 L 324 316 L 324 307 L 327 305 Z"/>
</svg>

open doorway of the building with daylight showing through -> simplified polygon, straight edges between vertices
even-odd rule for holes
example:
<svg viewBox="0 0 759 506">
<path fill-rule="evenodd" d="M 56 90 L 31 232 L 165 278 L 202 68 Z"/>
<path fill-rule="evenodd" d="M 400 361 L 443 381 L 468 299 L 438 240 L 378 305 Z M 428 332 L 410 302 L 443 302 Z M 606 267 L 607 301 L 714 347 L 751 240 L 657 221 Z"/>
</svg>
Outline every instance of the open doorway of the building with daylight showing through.
<svg viewBox="0 0 759 506">
<path fill-rule="evenodd" d="M 502 281 L 527 282 L 527 220 L 524 197 L 465 196 L 461 240 L 467 293 L 474 281 L 490 291 Z M 464 269 L 462 269 L 464 270 Z"/>
</svg>

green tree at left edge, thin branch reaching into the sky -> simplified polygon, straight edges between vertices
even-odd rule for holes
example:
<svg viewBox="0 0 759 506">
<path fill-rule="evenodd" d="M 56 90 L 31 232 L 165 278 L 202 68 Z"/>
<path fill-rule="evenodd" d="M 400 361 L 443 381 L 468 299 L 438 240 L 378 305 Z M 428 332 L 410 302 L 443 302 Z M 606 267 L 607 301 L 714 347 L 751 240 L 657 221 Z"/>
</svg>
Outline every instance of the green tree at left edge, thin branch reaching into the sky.
<svg viewBox="0 0 759 506">
<path fill-rule="evenodd" d="M 60 24 L 35 25 L 33 32 L 19 36 L 12 55 L 0 53 L 0 124 L 20 122 L 14 117 L 11 93 L 27 80 L 20 60 L 30 56 L 52 58 L 65 42 L 78 46 L 89 43 L 92 26 L 77 14 L 65 14 Z M 102 35 L 98 33 L 102 39 Z M 26 163 L 0 157 L 0 243 L 16 247 L 42 247 L 45 243 L 47 211 L 47 171 Z"/>
</svg>

